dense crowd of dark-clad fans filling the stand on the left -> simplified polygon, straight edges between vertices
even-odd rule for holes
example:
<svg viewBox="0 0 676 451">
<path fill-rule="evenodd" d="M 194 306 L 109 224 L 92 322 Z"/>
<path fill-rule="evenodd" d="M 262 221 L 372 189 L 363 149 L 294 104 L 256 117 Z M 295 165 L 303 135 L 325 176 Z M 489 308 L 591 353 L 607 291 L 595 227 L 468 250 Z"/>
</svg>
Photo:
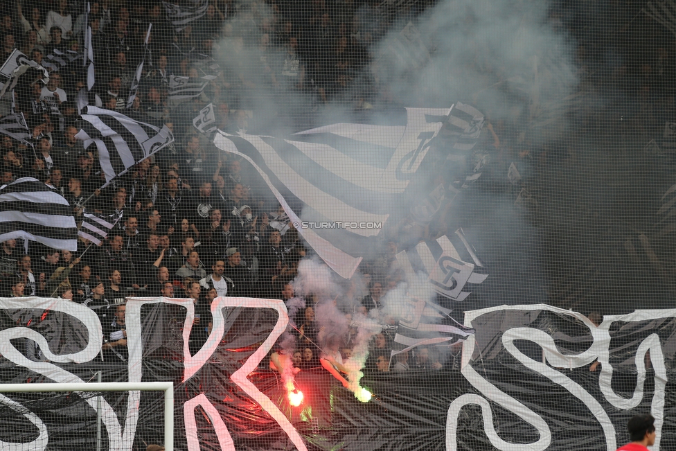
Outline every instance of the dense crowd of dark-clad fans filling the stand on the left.
<svg viewBox="0 0 676 451">
<path fill-rule="evenodd" d="M 251 166 L 217 150 L 195 130 L 193 118 L 212 103 L 220 129 L 249 130 L 262 126 L 259 117 L 270 116 L 259 98 L 283 103 L 294 93 L 316 105 L 346 100 L 357 102 L 355 108 L 368 107 L 364 98 L 341 98 L 341 93 L 368 61 L 366 45 L 384 33 L 374 8 L 373 2 L 217 0 L 208 3 L 204 17 L 175 30 L 161 2 L 91 1 L 87 15 L 81 1 L 6 5 L 0 13 L 3 58 L 18 48 L 48 69 L 49 80 L 45 85 L 29 71 L 0 100 L 1 114 L 23 114 L 33 144 L 2 136 L 1 182 L 35 177 L 69 201 L 78 224 L 84 213 L 96 213 L 116 225 L 100 245 L 78 238 L 73 252 L 21 239 L 2 242 L 2 295 L 84 303 L 100 317 L 104 348 L 113 359 L 125 353 L 125 297 L 192 298 L 198 316 L 205 317 L 217 296 L 292 297 L 290 281 L 308 250 Z M 90 90 L 79 56 L 87 26 L 96 81 Z M 205 61 L 215 59 L 220 67 L 204 89 L 172 98 L 172 74 L 194 78 L 198 69 L 204 73 Z M 127 108 L 130 94 L 135 97 Z M 136 121 L 167 125 L 175 141 L 102 189 L 100 155 L 75 137 L 83 98 Z M 383 285 L 396 284 L 385 280 L 392 261 L 389 254 L 374 263 L 382 281 L 374 278 L 364 306 L 355 309 L 380 308 Z M 304 366 L 319 357 L 317 326 L 310 317 L 312 299 L 296 318 L 302 324 L 299 339 L 310 337 L 299 349 Z M 196 329 L 191 347 L 200 346 L 208 332 Z M 375 369 L 377 357 L 387 355 L 389 361 L 391 343 L 385 349 L 384 338 L 375 339 L 373 346 L 382 348 L 373 356 Z M 341 353 L 349 353 L 349 337 Z"/>
</svg>

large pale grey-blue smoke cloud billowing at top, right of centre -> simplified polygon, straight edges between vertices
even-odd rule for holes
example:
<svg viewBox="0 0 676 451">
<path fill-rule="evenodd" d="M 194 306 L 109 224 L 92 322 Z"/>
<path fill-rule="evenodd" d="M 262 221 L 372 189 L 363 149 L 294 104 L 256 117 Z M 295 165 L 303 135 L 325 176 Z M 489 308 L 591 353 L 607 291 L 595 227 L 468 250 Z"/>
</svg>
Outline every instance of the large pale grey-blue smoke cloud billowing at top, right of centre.
<svg viewBox="0 0 676 451">
<path fill-rule="evenodd" d="M 573 46 L 548 23 L 550 8 L 548 1 L 441 1 L 410 26 L 393 27 L 375 46 L 373 72 L 400 105 L 460 100 L 491 121 L 541 117 L 562 128 L 556 109 L 578 79 Z"/>
</svg>

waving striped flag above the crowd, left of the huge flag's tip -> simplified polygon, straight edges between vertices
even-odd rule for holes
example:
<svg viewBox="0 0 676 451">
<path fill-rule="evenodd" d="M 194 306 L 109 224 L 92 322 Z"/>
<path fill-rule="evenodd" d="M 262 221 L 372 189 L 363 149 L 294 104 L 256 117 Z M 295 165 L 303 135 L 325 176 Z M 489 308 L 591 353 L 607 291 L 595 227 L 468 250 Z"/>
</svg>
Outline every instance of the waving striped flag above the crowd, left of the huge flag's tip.
<svg viewBox="0 0 676 451">
<path fill-rule="evenodd" d="M 82 129 L 75 137 L 85 149 L 96 145 L 106 180 L 103 186 L 174 141 L 166 125 L 159 128 L 110 109 L 88 105 L 80 117 Z"/>
</svg>

